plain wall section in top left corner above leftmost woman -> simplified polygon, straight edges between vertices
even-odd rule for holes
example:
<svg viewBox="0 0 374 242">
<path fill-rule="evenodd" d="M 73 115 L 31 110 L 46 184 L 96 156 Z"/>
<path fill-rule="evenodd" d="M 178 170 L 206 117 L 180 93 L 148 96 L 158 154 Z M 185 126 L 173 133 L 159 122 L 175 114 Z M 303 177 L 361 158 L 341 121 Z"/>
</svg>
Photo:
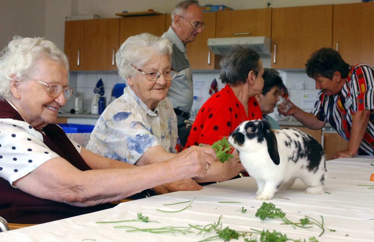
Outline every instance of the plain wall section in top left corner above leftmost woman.
<svg viewBox="0 0 374 242">
<path fill-rule="evenodd" d="M 0 50 L 14 35 L 44 37 L 45 6 L 46 0 L 0 0 Z"/>
</svg>

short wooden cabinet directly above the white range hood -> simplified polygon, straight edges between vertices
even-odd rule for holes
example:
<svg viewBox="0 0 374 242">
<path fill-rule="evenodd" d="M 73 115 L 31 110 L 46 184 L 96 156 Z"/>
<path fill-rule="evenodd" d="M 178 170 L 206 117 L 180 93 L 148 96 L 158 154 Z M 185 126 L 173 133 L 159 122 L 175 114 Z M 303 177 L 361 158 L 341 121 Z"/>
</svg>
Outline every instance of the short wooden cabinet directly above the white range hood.
<svg viewBox="0 0 374 242">
<path fill-rule="evenodd" d="M 217 12 L 216 38 L 271 37 L 272 9 L 245 9 Z"/>
</svg>

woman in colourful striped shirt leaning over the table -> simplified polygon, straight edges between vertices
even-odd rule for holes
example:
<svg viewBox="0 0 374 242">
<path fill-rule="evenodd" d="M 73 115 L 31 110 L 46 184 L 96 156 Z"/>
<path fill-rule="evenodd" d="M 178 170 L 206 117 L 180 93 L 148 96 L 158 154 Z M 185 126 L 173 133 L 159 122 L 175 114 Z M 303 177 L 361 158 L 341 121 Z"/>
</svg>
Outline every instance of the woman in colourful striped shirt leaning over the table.
<svg viewBox="0 0 374 242">
<path fill-rule="evenodd" d="M 306 73 L 321 90 L 315 108 L 307 113 L 291 103 L 283 115 L 314 130 L 329 122 L 349 141 L 331 158 L 374 155 L 374 69 L 363 63 L 349 66 L 336 50 L 322 48 L 310 56 Z"/>
</svg>

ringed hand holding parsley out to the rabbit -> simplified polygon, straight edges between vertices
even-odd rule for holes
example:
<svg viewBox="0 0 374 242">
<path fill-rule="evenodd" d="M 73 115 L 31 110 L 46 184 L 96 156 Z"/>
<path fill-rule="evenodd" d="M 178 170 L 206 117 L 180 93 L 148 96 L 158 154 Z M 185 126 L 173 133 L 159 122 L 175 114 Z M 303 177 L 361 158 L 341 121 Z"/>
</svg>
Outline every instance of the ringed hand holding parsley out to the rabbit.
<svg viewBox="0 0 374 242">
<path fill-rule="evenodd" d="M 206 176 L 217 158 L 211 147 L 191 146 L 174 156 L 171 161 L 174 174 L 181 179 Z"/>
</svg>

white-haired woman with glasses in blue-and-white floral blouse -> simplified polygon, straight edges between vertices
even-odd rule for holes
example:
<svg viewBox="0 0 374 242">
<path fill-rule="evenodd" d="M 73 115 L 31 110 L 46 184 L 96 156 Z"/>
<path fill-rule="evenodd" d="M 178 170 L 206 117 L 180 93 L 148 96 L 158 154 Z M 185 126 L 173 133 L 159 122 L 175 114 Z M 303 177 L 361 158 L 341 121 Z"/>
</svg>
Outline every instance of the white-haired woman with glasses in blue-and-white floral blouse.
<svg viewBox="0 0 374 242">
<path fill-rule="evenodd" d="M 171 66 L 169 40 L 148 33 L 129 37 L 116 53 L 119 75 L 128 86 L 104 110 L 93 129 L 87 149 L 137 166 L 176 156 L 177 117 L 166 97 L 176 71 Z M 196 147 L 196 146 L 195 146 Z M 228 180 L 242 169 L 237 161 L 219 161 L 207 176 L 154 187 L 160 194 L 199 190 L 196 182 Z"/>
</svg>

